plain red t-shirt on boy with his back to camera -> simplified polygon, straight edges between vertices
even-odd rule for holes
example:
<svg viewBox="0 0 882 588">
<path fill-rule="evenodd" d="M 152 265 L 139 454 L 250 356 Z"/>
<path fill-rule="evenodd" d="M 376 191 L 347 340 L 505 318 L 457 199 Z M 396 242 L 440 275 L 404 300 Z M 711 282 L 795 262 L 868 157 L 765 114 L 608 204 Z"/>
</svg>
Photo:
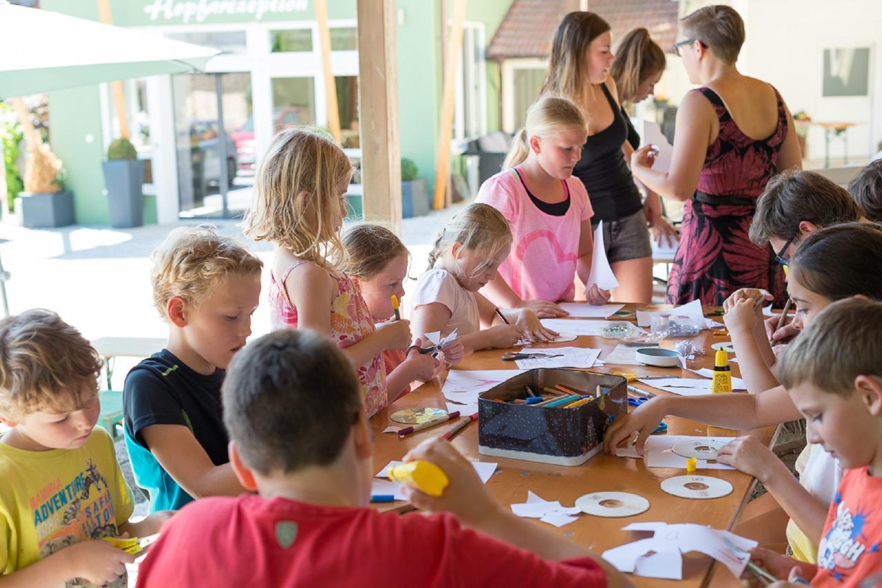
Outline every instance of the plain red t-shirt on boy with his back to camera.
<svg viewBox="0 0 882 588">
<path fill-rule="evenodd" d="M 191 502 L 163 527 L 138 586 L 606 586 L 592 559 L 549 562 L 456 517 L 381 514 L 258 495 Z"/>
</svg>

